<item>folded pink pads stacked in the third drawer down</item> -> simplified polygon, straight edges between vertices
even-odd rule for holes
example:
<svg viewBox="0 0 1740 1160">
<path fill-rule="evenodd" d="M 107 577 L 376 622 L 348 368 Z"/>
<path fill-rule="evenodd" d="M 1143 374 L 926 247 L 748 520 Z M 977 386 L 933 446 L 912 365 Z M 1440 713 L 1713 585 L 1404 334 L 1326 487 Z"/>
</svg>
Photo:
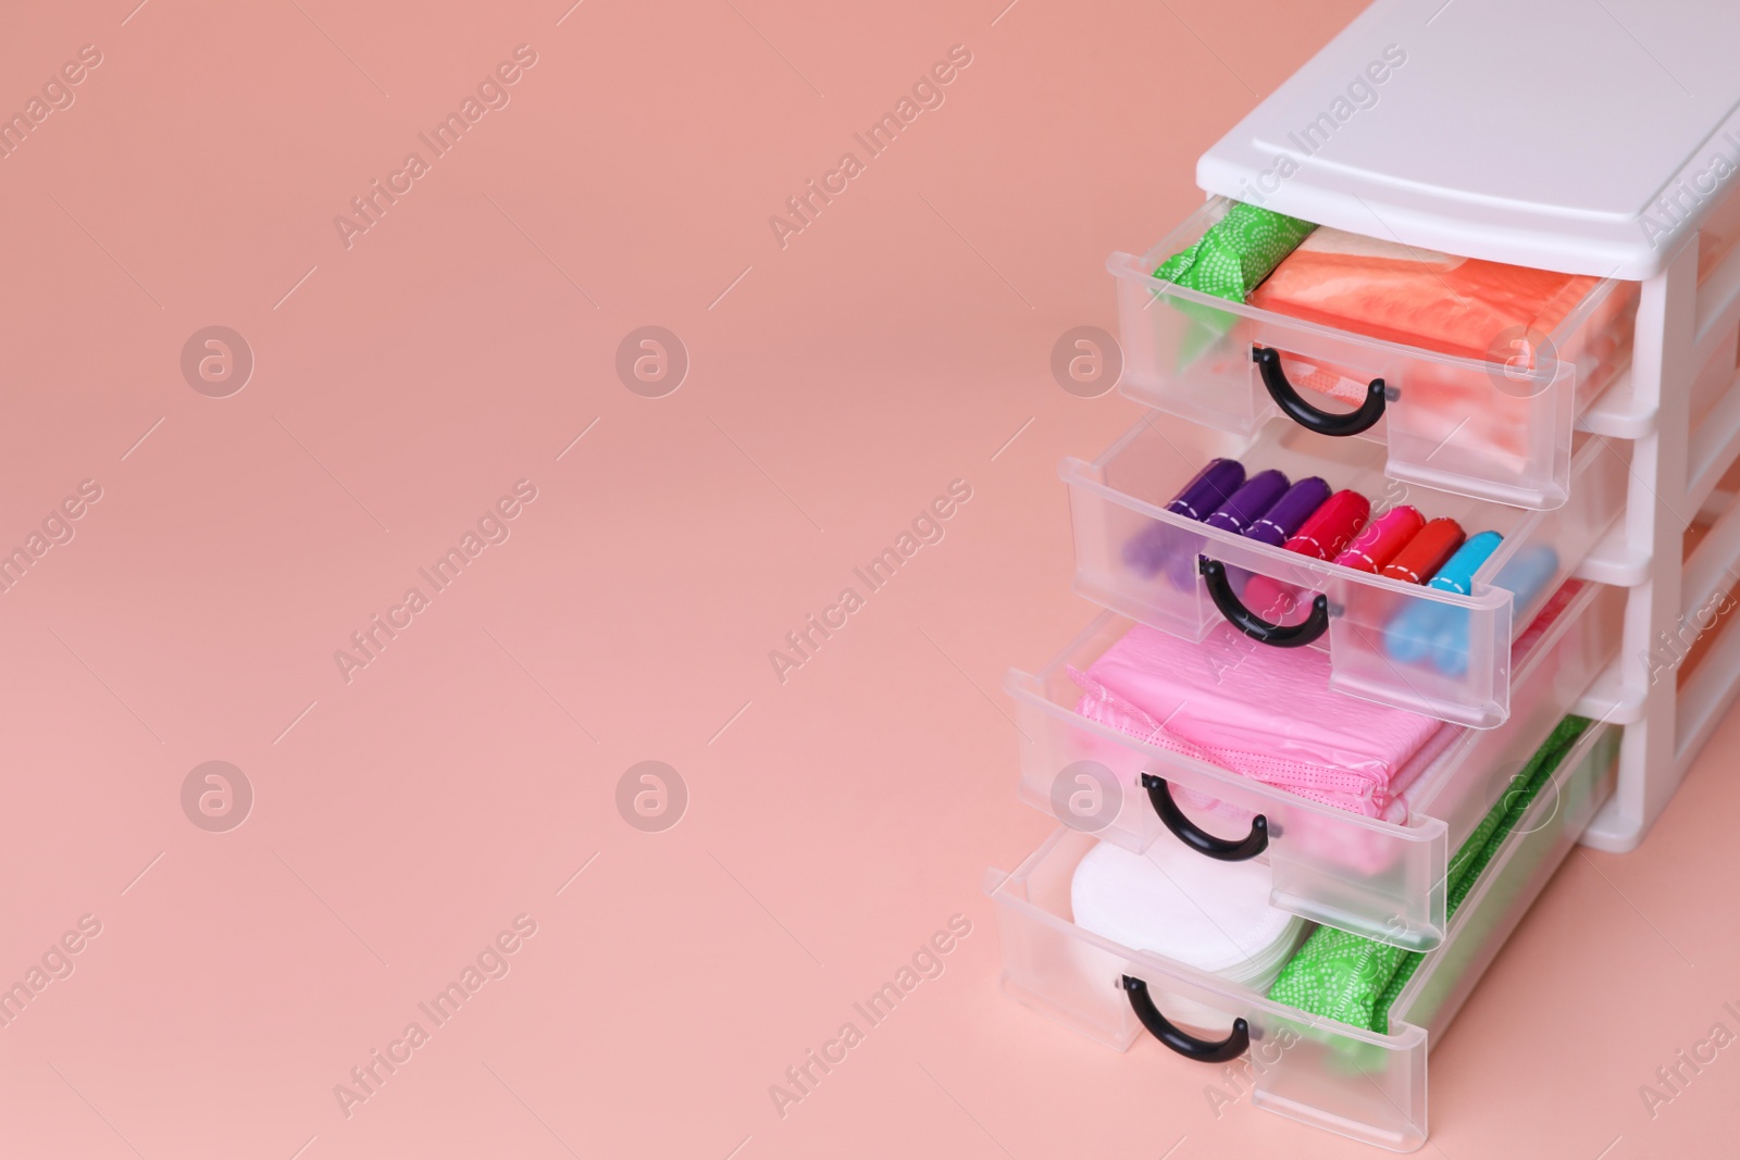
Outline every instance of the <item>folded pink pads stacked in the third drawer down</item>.
<svg viewBox="0 0 1740 1160">
<path fill-rule="evenodd" d="M 1366 817 L 1402 821 L 1395 797 L 1449 739 L 1436 718 L 1331 692 L 1328 654 L 1230 624 L 1202 643 L 1136 624 L 1070 677 L 1093 722 Z"/>
</svg>

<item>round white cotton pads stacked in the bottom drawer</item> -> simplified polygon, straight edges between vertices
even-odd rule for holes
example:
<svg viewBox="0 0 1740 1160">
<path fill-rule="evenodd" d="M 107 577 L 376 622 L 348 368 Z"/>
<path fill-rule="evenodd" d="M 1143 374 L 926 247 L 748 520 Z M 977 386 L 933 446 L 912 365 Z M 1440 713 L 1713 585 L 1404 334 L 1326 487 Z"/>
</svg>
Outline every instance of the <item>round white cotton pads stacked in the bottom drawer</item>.
<svg viewBox="0 0 1740 1160">
<path fill-rule="evenodd" d="M 1101 842 L 1070 883 L 1075 923 L 1237 983 L 1267 986 L 1305 922 L 1268 904 L 1268 866 L 1221 863 L 1162 837 L 1145 854 Z"/>
</svg>

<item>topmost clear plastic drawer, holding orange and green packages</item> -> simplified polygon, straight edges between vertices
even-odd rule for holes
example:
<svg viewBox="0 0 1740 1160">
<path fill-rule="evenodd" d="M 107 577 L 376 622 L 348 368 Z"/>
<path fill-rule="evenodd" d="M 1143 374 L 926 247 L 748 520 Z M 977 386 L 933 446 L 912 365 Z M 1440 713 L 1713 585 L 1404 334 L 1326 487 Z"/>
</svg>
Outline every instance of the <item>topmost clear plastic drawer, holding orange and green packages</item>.
<svg viewBox="0 0 1740 1160">
<path fill-rule="evenodd" d="M 1230 205 L 1215 198 L 1147 254 L 1108 259 L 1126 395 L 1239 435 L 1275 416 L 1324 437 L 1350 431 L 1382 445 L 1395 480 L 1521 508 L 1564 504 L 1571 428 L 1630 362 L 1637 283 L 1603 280 L 1552 334 L 1505 332 L 1486 358 L 1456 358 L 1154 277 Z"/>
</svg>

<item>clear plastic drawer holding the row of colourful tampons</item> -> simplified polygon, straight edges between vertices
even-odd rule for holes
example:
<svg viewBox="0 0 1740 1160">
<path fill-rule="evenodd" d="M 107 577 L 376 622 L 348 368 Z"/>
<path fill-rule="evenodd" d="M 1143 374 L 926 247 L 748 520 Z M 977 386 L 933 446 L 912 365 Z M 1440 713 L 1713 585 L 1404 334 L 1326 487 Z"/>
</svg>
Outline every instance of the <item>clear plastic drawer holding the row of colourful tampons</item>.
<svg viewBox="0 0 1740 1160">
<path fill-rule="evenodd" d="M 1326 649 L 1336 692 L 1491 729 L 1510 713 L 1510 642 L 1623 510 L 1629 447 L 1585 438 L 1571 461 L 1569 503 L 1547 513 L 1385 480 L 1383 449 L 1373 443 L 1289 424 L 1242 440 L 1150 416 L 1093 463 L 1072 457 L 1058 468 L 1070 489 L 1075 591 L 1185 640 L 1234 621 L 1262 647 Z M 1456 520 L 1469 536 L 1500 532 L 1503 543 L 1463 597 L 1168 511 L 1216 456 L 1251 475 L 1275 468 L 1295 482 L 1321 477 L 1352 489 L 1371 499 L 1373 518 L 1406 503 L 1425 518 Z M 1262 597 L 1253 576 L 1268 577 Z M 1291 610 L 1275 612 L 1277 593 Z"/>
</svg>

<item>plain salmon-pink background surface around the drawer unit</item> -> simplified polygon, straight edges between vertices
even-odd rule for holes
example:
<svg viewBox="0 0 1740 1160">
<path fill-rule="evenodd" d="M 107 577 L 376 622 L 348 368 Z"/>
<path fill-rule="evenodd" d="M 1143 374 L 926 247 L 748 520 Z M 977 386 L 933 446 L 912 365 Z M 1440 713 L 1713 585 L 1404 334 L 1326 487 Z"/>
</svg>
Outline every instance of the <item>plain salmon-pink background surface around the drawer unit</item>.
<svg viewBox="0 0 1740 1160">
<path fill-rule="evenodd" d="M 0 1028 L 0 1155 L 1376 1155 L 1004 998 L 980 892 L 1053 824 L 1002 671 L 1093 616 L 1054 464 L 1136 416 L 1051 344 L 1114 327 L 1105 256 L 1357 2 L 134 3 L 0 38 L 7 110 L 103 54 L 0 162 L 0 548 L 103 489 L 0 597 L 0 981 L 103 923 Z M 520 43 L 512 103 L 346 249 L 332 217 Z M 781 249 L 769 214 L 957 43 Z M 214 323 L 258 363 L 228 398 L 179 370 Z M 616 377 L 642 325 L 691 357 L 663 398 Z M 520 478 L 512 537 L 346 683 L 334 650 Z M 945 539 L 776 680 L 957 478 Z M 1737 1052 L 1653 1120 L 1637 1089 L 1740 1030 L 1737 746 L 1637 854 L 1566 863 L 1432 1057 L 1429 1150 L 1731 1146 Z M 691 795 L 661 833 L 616 810 L 649 758 Z M 228 833 L 181 809 L 209 760 L 256 795 Z M 520 913 L 512 972 L 346 1118 L 334 1085 Z M 957 913 L 781 1118 L 767 1087 Z"/>
</svg>

